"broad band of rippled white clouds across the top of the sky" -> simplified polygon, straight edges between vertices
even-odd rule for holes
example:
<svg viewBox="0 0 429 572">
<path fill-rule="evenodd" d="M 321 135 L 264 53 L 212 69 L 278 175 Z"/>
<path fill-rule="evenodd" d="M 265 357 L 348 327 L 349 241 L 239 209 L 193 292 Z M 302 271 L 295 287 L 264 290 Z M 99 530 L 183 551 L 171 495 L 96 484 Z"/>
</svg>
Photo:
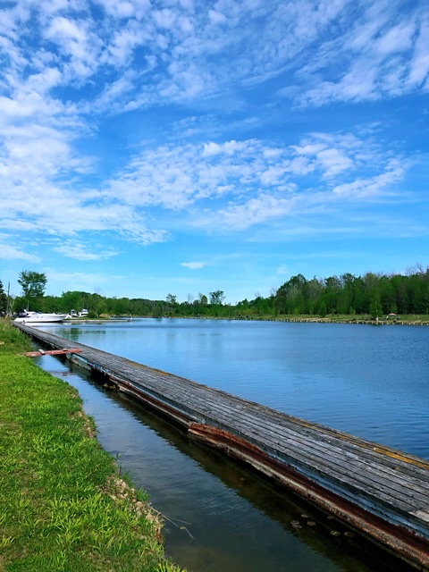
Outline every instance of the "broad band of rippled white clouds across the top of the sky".
<svg viewBox="0 0 429 572">
<path fill-rule="evenodd" d="M 425 89 L 428 23 L 418 3 L 401 19 L 383 0 L 359 9 L 348 0 L 254 0 L 240 7 L 223 2 L 199 11 L 190 0 L 162 9 L 148 0 L 97 4 L 102 7 L 97 19 L 88 4 L 79 1 L 21 3 L 2 13 L 0 26 L 3 21 L 5 30 L 15 30 L 4 40 L 8 61 L 13 58 L 8 81 L 14 84 L 14 97 L 9 98 L 17 104 L 15 113 L 19 108 L 21 114 L 28 113 L 21 89 L 28 74 L 34 84 L 39 82 L 32 86 L 34 96 L 45 94 L 46 106 L 55 102 L 49 101 L 49 90 L 75 84 L 92 92 L 81 101 L 85 112 L 98 101 L 98 113 L 112 112 L 112 99 L 107 97 L 114 96 L 111 86 L 122 87 L 114 99 L 115 113 L 156 105 L 160 98 L 165 102 L 213 97 L 231 86 L 276 76 L 282 78 L 284 94 L 293 93 L 295 82 L 302 80 L 296 96 L 299 105 L 376 100 Z M 29 38 L 30 55 L 21 37 Z M 399 58 L 399 66 L 393 67 L 393 57 Z M 401 71 L 395 75 L 398 67 Z M 76 92 L 78 103 L 80 97 Z"/>
</svg>

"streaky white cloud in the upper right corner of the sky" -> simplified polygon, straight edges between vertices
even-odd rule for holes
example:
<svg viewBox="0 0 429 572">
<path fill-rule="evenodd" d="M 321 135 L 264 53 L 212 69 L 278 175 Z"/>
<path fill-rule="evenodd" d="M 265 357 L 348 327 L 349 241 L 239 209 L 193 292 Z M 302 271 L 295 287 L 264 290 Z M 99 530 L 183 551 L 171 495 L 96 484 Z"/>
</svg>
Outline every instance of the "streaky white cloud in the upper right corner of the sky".
<svg viewBox="0 0 429 572">
<path fill-rule="evenodd" d="M 383 2 L 361 12 L 351 29 L 343 29 L 331 45 L 322 45 L 301 70 L 309 82 L 307 73 L 319 74 L 314 86 L 303 86 L 297 103 L 320 106 L 335 101 L 374 101 L 425 88 L 423 81 L 429 72 L 427 15 L 417 5 L 401 14 L 401 21 L 397 19 L 391 5 Z M 339 70 L 335 75 L 321 72 L 335 61 Z M 283 93 L 288 96 L 287 90 Z"/>
</svg>

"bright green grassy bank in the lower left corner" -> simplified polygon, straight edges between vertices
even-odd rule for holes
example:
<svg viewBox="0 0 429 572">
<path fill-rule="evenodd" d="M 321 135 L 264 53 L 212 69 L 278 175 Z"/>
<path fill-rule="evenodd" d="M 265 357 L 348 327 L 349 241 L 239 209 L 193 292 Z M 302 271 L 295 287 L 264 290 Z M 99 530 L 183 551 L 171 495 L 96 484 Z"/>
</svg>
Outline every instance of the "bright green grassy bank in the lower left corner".
<svg viewBox="0 0 429 572">
<path fill-rule="evenodd" d="M 161 521 L 119 475 L 67 383 L 0 320 L 0 571 L 179 572 Z"/>
</svg>

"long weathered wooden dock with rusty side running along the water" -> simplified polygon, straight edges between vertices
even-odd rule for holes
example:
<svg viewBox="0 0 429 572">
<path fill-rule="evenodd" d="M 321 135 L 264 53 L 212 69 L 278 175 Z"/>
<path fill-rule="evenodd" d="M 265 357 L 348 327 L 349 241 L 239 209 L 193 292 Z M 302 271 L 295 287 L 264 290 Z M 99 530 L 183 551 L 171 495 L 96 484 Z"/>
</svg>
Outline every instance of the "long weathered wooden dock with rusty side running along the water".
<svg viewBox="0 0 429 572">
<path fill-rule="evenodd" d="M 17 327 L 52 349 L 70 344 Z M 174 420 L 190 438 L 248 463 L 415 568 L 429 568 L 429 461 L 74 341 L 73 349 L 72 362 Z"/>
</svg>

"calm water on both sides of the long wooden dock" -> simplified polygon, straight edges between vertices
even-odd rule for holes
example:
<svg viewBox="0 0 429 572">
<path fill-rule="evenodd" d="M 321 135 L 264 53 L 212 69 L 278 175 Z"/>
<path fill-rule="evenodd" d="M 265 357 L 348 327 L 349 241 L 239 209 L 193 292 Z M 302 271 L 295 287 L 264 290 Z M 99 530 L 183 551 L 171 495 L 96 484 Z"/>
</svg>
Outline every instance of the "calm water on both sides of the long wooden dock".
<svg viewBox="0 0 429 572">
<path fill-rule="evenodd" d="M 429 328 L 145 319 L 43 329 L 429 458 Z M 85 374 L 54 357 L 40 364 L 78 388 L 100 442 L 169 518 L 166 551 L 189 570 L 399 569 Z"/>
</svg>

